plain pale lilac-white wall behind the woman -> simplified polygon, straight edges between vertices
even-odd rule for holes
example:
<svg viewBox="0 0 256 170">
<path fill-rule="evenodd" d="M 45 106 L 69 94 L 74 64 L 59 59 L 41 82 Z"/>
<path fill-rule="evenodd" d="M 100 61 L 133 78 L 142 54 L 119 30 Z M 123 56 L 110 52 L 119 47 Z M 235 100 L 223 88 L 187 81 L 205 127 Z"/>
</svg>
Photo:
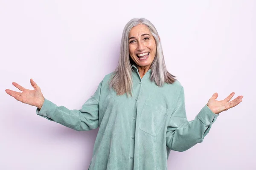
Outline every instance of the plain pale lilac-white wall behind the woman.
<svg viewBox="0 0 256 170">
<path fill-rule="evenodd" d="M 255 0 L 0 0 L 0 169 L 87 170 L 98 129 L 79 132 L 36 115 L 5 89 L 17 82 L 80 109 L 112 72 L 125 24 L 150 20 L 193 120 L 208 99 L 243 101 L 202 143 L 171 151 L 168 170 L 255 170 Z"/>
</svg>

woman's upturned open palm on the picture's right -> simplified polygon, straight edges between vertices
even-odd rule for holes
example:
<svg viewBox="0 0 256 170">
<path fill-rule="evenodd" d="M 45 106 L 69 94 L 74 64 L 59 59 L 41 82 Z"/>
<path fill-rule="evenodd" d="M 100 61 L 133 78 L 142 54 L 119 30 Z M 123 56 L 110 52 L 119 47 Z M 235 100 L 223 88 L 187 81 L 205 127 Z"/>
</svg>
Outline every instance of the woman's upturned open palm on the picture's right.
<svg viewBox="0 0 256 170">
<path fill-rule="evenodd" d="M 230 101 L 230 99 L 234 96 L 234 94 L 235 92 L 232 92 L 229 96 L 227 96 L 226 99 L 218 101 L 218 100 L 215 100 L 218 97 L 218 93 L 215 93 L 209 99 L 207 106 L 215 114 L 221 113 L 222 111 L 227 111 L 228 109 L 235 107 L 242 101 L 243 96 L 237 96 L 236 99 L 233 99 L 232 101 Z"/>
</svg>

